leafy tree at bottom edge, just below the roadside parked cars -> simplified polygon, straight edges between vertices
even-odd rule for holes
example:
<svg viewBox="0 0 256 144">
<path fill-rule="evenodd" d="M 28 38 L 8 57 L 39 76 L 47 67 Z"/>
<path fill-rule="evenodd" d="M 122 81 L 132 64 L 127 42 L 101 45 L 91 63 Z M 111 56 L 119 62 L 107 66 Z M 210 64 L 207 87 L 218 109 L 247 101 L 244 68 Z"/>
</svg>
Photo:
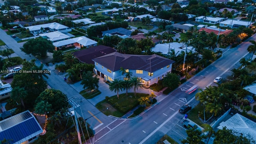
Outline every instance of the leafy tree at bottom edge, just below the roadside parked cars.
<svg viewBox="0 0 256 144">
<path fill-rule="evenodd" d="M 182 144 L 205 144 L 202 140 L 206 137 L 202 135 L 202 132 L 199 130 L 195 130 L 194 128 L 190 128 L 186 130 L 188 137 L 182 140 Z"/>
</svg>

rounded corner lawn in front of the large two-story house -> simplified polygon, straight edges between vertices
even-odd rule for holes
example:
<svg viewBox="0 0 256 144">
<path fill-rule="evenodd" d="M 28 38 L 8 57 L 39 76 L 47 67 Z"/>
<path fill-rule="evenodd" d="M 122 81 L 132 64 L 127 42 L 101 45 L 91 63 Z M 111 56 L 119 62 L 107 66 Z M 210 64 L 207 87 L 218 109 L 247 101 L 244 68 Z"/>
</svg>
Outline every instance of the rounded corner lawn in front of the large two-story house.
<svg viewBox="0 0 256 144">
<path fill-rule="evenodd" d="M 112 115 L 121 118 L 127 112 L 138 106 L 140 104 L 138 99 L 144 96 L 148 96 L 148 94 L 138 93 L 136 97 L 134 93 L 128 93 L 128 96 L 126 96 L 126 94 L 120 94 L 119 99 L 115 95 L 107 97 L 107 100 L 105 99 L 96 104 L 96 108 L 107 116 Z M 108 110 L 106 110 L 106 108 L 108 108 Z"/>
</svg>

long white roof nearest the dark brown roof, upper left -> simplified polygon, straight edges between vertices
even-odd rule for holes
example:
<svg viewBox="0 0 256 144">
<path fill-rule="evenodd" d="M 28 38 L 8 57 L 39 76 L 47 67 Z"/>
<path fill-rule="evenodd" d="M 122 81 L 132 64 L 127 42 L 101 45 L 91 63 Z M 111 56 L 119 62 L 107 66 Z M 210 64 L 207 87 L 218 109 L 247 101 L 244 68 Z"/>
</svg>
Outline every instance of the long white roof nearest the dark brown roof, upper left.
<svg viewBox="0 0 256 144">
<path fill-rule="evenodd" d="M 77 38 L 71 38 L 71 39 L 68 39 L 68 40 L 62 40 L 62 41 L 59 41 L 59 42 L 54 42 L 52 44 L 56 47 L 60 47 L 60 46 L 68 45 L 68 44 L 74 44 L 76 42 L 79 43 L 79 44 L 82 44 L 83 46 L 90 46 L 90 45 L 97 44 L 96 41 L 91 40 L 90 38 L 86 38 L 85 36 L 80 36 L 80 37 L 77 37 Z"/>
</svg>

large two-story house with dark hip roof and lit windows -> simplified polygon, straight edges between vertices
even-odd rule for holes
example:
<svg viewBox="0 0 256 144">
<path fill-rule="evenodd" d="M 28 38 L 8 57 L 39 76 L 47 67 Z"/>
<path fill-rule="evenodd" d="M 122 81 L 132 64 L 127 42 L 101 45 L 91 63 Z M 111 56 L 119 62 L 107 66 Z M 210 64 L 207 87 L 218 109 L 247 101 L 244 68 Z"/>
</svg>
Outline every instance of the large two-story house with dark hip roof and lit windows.
<svg viewBox="0 0 256 144">
<path fill-rule="evenodd" d="M 138 77 L 146 87 L 158 82 L 171 72 L 173 60 L 153 55 L 133 55 L 113 52 L 93 59 L 94 72 L 107 81 L 114 79 L 126 80 L 126 74 L 122 75 L 120 68 L 132 73 L 132 77 Z"/>
</svg>

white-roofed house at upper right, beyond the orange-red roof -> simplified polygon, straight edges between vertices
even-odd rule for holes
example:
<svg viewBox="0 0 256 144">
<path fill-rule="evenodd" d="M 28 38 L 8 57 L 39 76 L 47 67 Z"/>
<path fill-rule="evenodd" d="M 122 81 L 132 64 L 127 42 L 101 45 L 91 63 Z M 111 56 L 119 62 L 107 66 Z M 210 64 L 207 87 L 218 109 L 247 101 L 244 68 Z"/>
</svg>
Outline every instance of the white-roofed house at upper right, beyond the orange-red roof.
<svg viewBox="0 0 256 144">
<path fill-rule="evenodd" d="M 227 28 L 238 28 L 240 26 L 250 26 L 253 24 L 253 22 L 249 21 L 242 21 L 242 20 L 225 20 L 223 22 L 220 22 L 221 27 L 227 27 Z"/>
</svg>

